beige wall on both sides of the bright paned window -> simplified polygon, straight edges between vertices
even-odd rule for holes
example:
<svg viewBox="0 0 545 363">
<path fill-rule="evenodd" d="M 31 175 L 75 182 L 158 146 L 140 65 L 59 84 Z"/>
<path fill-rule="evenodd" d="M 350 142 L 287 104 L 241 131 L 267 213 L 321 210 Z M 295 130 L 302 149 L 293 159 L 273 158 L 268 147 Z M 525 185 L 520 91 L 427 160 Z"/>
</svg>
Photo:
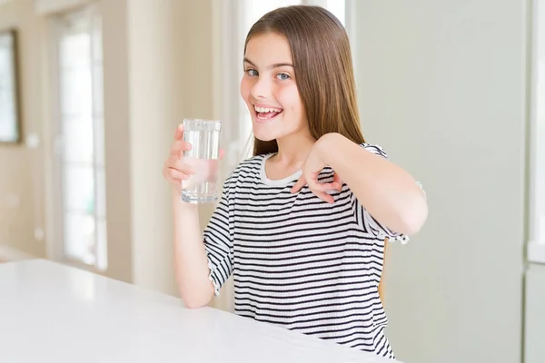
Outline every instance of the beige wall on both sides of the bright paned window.
<svg viewBox="0 0 545 363">
<path fill-rule="evenodd" d="M 128 130 L 127 10 L 124 0 L 18 0 L 0 5 L 0 28 L 20 31 L 23 132 L 37 134 L 40 147 L 0 145 L 0 255 L 62 258 L 55 237 L 54 87 L 50 17 L 94 3 L 104 15 L 104 115 L 108 214 L 108 276 L 133 280 L 131 256 L 130 152 Z M 18 207 L 10 207 L 20 200 Z M 35 229 L 45 240 L 35 240 Z"/>
</svg>

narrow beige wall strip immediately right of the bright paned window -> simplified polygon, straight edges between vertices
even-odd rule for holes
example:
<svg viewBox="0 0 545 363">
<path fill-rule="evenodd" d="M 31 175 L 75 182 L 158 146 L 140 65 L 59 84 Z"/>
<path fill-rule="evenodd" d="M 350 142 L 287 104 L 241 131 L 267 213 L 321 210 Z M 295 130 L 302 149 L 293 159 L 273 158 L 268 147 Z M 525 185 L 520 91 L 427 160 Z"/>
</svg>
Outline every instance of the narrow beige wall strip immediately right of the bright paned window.
<svg viewBox="0 0 545 363">
<path fill-rule="evenodd" d="M 104 48 L 104 156 L 108 270 L 106 275 L 133 281 L 131 209 L 131 110 L 129 103 L 128 19 L 126 0 L 101 0 Z"/>
</svg>

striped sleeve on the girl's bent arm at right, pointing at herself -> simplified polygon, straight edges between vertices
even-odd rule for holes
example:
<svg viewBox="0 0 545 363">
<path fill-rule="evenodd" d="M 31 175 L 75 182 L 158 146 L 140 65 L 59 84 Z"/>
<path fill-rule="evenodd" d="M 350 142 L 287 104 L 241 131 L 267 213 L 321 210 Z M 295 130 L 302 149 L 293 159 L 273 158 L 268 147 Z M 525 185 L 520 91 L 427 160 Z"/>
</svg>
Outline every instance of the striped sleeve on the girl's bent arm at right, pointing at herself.
<svg viewBox="0 0 545 363">
<path fill-rule="evenodd" d="M 380 146 L 371 145 L 368 143 L 362 143 L 361 146 L 368 152 L 372 152 L 373 154 L 378 155 L 381 158 L 389 160 L 388 155 L 386 154 L 386 152 L 384 152 L 384 150 Z M 421 183 L 419 182 L 418 184 L 421 187 Z M 423 189 L 422 189 L 422 192 L 424 192 Z M 353 198 L 353 203 L 355 206 L 356 220 L 365 231 L 371 232 L 372 235 L 374 235 L 376 238 L 380 240 L 384 240 L 384 239 L 399 240 L 402 244 L 405 244 L 409 241 L 409 236 L 395 232 L 395 231 L 391 231 L 388 227 L 381 224 L 379 221 L 375 220 L 372 217 L 372 215 L 369 213 L 369 211 L 367 211 L 362 206 L 362 204 L 360 204 L 360 202 L 355 198 L 355 196 L 353 196 L 353 194 L 352 194 L 352 198 Z"/>
</svg>

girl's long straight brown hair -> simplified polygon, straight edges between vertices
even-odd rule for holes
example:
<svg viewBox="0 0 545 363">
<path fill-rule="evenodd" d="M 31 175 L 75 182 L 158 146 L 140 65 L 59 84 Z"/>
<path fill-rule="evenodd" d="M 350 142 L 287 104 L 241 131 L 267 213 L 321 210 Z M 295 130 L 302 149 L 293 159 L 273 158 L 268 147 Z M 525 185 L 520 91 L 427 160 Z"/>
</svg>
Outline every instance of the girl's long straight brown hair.
<svg viewBox="0 0 545 363">
<path fill-rule="evenodd" d="M 246 36 L 244 54 L 250 39 L 265 33 L 280 34 L 290 44 L 295 81 L 314 140 L 338 132 L 352 142 L 365 142 L 350 43 L 339 19 L 320 6 L 280 7 L 252 26 Z M 253 155 L 268 152 L 278 152 L 276 140 L 253 139 Z"/>
</svg>

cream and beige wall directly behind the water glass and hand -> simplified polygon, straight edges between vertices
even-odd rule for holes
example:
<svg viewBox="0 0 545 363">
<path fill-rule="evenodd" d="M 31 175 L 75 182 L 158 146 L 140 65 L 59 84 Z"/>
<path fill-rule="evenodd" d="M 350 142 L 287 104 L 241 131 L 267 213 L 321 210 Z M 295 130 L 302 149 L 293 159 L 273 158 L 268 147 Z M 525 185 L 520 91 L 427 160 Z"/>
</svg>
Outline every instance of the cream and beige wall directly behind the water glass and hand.
<svg viewBox="0 0 545 363">
<path fill-rule="evenodd" d="M 175 293 L 172 194 L 161 169 L 184 117 L 217 114 L 214 13 L 211 1 L 127 4 L 134 283 Z"/>
</svg>

